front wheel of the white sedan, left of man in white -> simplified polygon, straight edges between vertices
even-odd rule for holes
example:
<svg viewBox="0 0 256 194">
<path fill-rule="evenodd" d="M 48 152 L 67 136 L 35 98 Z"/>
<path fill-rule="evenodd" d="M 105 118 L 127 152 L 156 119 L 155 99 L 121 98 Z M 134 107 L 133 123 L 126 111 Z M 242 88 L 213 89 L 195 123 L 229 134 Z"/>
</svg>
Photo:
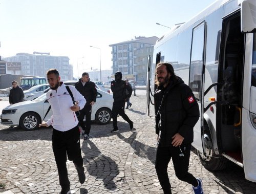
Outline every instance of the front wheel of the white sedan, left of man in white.
<svg viewBox="0 0 256 194">
<path fill-rule="evenodd" d="M 33 131 L 38 128 L 40 123 L 39 116 L 35 113 L 28 112 L 20 117 L 19 125 L 26 131 Z"/>
</svg>

